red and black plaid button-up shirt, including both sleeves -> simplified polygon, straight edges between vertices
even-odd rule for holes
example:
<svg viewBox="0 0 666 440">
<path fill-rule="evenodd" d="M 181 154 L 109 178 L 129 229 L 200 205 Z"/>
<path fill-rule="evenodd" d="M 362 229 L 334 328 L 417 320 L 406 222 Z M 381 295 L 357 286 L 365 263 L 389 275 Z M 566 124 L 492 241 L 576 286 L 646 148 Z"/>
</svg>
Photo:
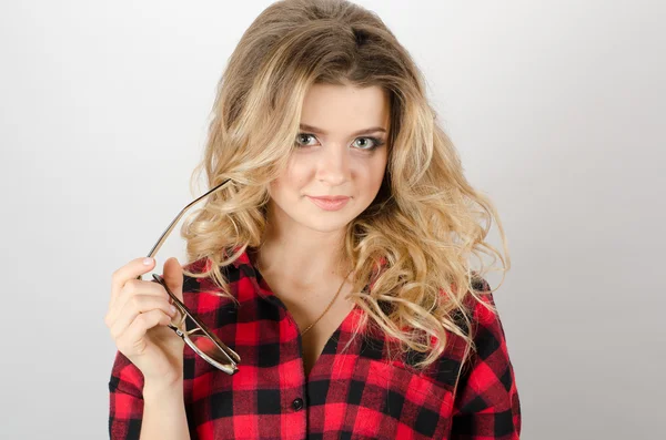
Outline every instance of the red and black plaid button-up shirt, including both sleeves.
<svg viewBox="0 0 666 440">
<path fill-rule="evenodd" d="M 189 268 L 196 273 L 201 263 Z M 306 378 L 299 328 L 248 254 L 223 270 L 240 307 L 205 294 L 219 291 L 210 278 L 185 276 L 183 285 L 185 305 L 241 357 L 239 372 L 229 376 L 184 346 L 192 439 L 518 439 L 521 406 L 504 329 L 482 306 L 473 320 L 477 352 L 460 377 L 465 345 L 455 335 L 422 372 L 410 368 L 410 356 L 387 361 L 387 339 L 376 331 L 341 352 L 363 313 L 356 307 Z M 111 439 L 139 439 L 142 388 L 141 371 L 118 352 L 109 382 Z"/>
</svg>

